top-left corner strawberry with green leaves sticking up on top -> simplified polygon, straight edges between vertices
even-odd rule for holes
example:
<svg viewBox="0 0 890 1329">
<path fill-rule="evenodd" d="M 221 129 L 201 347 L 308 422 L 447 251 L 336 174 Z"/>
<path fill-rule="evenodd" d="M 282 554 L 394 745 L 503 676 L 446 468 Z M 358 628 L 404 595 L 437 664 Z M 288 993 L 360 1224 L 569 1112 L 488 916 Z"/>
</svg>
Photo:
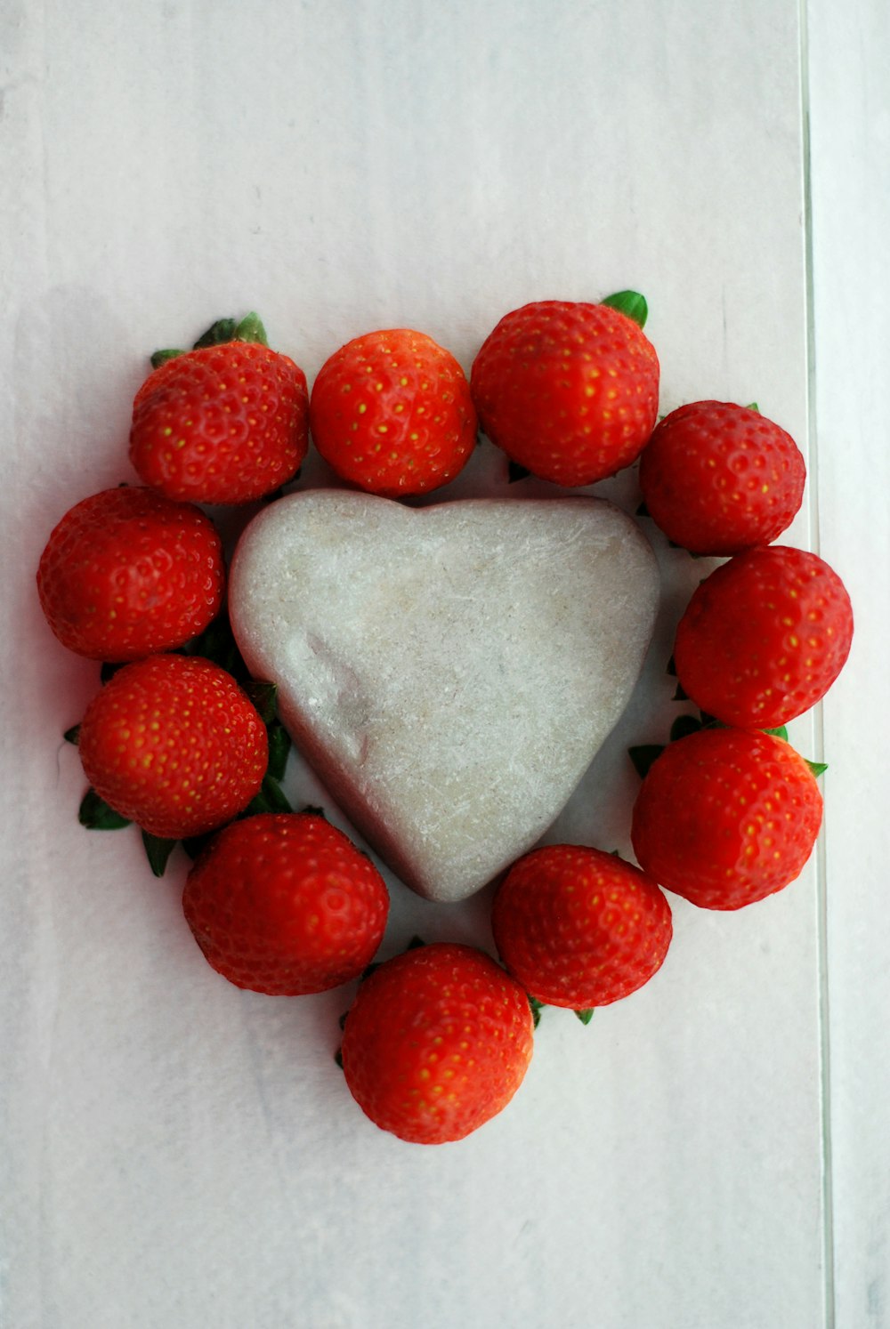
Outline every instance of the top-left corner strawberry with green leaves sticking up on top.
<svg viewBox="0 0 890 1329">
<path fill-rule="evenodd" d="M 291 480 L 306 456 L 306 375 L 270 351 L 255 314 L 221 319 L 194 350 L 161 351 L 136 393 L 130 461 L 169 498 L 243 504 Z"/>
</svg>

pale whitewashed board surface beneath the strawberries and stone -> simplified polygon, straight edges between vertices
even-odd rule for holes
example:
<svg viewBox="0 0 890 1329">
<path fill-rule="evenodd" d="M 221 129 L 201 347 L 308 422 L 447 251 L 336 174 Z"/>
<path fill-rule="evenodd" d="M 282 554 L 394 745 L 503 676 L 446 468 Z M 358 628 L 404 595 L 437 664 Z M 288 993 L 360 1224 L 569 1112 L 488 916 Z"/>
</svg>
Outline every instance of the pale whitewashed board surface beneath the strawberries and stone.
<svg viewBox="0 0 890 1329">
<path fill-rule="evenodd" d="M 890 1325 L 890 31 L 878 0 L 837 9 L 0 3 L 4 1329 Z M 507 1112 L 404 1146 L 333 1063 L 349 989 L 237 991 L 184 928 L 182 860 L 157 882 L 130 832 L 77 827 L 60 734 L 96 671 L 33 570 L 65 508 L 132 478 L 145 352 L 220 314 L 257 307 L 311 379 L 394 323 L 468 367 L 508 308 L 624 286 L 663 411 L 756 399 L 808 452 L 786 538 L 857 611 L 793 730 L 830 763 L 823 836 L 740 916 L 672 900 L 647 989 L 588 1029 L 545 1013 Z M 475 461 L 447 496 L 499 482 Z M 623 748 L 676 714 L 701 567 L 656 545 L 652 664 L 552 839 L 625 844 Z M 487 906 L 395 884 L 386 946 L 486 944 Z"/>
</svg>

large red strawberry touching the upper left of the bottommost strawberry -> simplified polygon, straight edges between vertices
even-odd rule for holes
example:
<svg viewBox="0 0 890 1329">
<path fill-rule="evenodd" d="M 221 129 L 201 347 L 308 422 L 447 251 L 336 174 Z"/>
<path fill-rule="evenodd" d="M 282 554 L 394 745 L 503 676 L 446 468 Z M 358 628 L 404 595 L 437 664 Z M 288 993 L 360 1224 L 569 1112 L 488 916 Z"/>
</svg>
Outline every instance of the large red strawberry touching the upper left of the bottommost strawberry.
<svg viewBox="0 0 890 1329">
<path fill-rule="evenodd" d="M 182 894 L 206 960 L 238 987 L 298 997 L 357 978 L 383 938 L 390 897 L 371 860 L 306 812 L 233 821 Z"/>
</svg>

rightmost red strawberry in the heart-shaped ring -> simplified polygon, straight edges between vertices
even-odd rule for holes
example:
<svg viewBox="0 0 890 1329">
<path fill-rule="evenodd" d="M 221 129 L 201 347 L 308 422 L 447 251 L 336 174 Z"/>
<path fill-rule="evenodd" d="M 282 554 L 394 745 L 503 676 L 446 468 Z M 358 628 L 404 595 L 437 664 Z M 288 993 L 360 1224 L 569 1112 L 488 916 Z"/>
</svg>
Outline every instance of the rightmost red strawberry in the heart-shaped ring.
<svg viewBox="0 0 890 1329">
<path fill-rule="evenodd" d="M 817 554 L 784 545 L 730 558 L 693 593 L 674 664 L 708 715 L 772 730 L 827 692 L 853 639 L 843 582 Z"/>
</svg>

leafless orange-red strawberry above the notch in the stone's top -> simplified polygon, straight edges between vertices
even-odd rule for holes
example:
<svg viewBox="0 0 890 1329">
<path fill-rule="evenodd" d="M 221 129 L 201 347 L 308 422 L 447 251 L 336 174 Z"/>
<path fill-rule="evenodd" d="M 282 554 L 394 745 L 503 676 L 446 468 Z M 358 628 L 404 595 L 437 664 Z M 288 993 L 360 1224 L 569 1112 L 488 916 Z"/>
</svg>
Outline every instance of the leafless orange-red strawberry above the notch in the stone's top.
<svg viewBox="0 0 890 1329">
<path fill-rule="evenodd" d="M 476 444 L 476 412 L 455 358 L 423 332 L 347 342 L 313 385 L 315 447 L 338 476 L 398 498 L 438 489 Z"/>
</svg>

